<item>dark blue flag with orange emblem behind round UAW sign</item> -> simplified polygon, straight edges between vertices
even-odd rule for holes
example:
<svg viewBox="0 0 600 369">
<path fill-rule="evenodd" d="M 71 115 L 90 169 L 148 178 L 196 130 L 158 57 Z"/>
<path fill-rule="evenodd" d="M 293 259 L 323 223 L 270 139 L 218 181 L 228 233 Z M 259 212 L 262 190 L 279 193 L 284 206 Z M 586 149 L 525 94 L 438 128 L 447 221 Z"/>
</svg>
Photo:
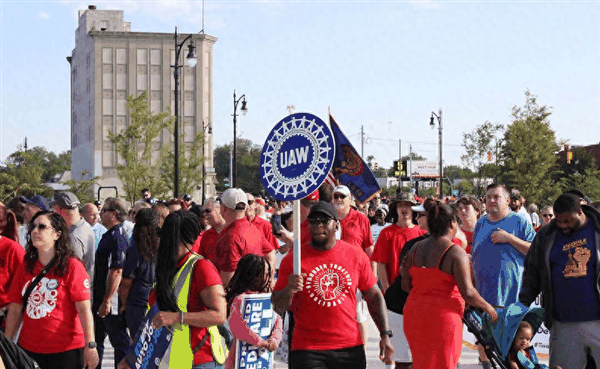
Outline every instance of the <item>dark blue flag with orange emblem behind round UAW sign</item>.
<svg viewBox="0 0 600 369">
<path fill-rule="evenodd" d="M 381 187 L 367 163 L 356 152 L 331 114 L 329 114 L 329 125 L 335 140 L 335 157 L 331 172 L 339 183 L 350 189 L 358 201 L 365 203 L 381 192 Z"/>
</svg>

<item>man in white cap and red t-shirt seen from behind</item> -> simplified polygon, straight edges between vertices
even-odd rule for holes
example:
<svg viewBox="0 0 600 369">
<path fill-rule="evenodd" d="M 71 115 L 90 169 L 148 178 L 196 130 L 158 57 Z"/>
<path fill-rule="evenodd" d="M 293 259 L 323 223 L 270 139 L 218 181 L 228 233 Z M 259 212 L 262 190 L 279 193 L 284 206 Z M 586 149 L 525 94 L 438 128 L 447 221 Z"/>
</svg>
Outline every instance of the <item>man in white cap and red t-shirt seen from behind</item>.
<svg viewBox="0 0 600 369">
<path fill-rule="evenodd" d="M 246 218 L 248 198 L 239 188 L 230 188 L 221 196 L 221 216 L 225 228 L 215 246 L 215 267 L 221 274 L 223 285 L 227 286 L 237 263 L 246 254 L 268 255 L 272 245 L 265 240 L 260 230 Z M 272 264 L 274 265 L 274 264 Z"/>
</svg>

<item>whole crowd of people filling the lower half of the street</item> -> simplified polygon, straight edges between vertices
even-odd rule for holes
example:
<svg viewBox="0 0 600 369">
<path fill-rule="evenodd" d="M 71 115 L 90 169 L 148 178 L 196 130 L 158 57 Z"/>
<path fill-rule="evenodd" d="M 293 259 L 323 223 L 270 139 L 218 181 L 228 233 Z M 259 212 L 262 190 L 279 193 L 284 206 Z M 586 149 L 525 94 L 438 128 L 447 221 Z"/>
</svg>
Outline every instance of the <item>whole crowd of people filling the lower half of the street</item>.
<svg viewBox="0 0 600 369">
<path fill-rule="evenodd" d="M 100 368 L 107 336 L 127 368 L 154 304 L 153 326 L 173 327 L 177 348 L 161 367 L 233 368 L 212 339 L 229 321 L 234 339 L 289 347 L 290 368 L 365 368 L 370 317 L 384 363 L 456 368 L 465 305 L 495 322 L 495 307 L 540 293 L 550 365 L 600 363 L 600 213 L 580 191 L 538 214 L 502 184 L 481 199 L 399 192 L 365 204 L 324 184 L 300 200 L 300 273 L 290 203 L 237 188 L 202 204 L 141 195 L 131 207 L 70 192 L 0 203 L 0 319 L 41 368 Z M 277 312 L 268 339 L 240 314 L 241 294 L 263 292 Z"/>
</svg>

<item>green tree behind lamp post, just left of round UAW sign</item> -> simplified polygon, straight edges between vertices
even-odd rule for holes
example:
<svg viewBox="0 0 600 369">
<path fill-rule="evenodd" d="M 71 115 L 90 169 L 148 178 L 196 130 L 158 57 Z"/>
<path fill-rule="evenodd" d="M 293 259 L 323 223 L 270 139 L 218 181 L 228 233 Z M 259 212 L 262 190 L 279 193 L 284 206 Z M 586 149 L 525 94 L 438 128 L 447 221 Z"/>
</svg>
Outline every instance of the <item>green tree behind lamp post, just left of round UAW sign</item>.
<svg viewBox="0 0 600 369">
<path fill-rule="evenodd" d="M 247 192 L 264 194 L 265 190 L 259 176 L 260 153 L 262 148 L 252 141 L 237 140 L 237 187 Z M 217 146 L 214 150 L 214 166 L 217 176 L 217 191 L 225 191 L 229 186 L 231 145 Z"/>
</svg>

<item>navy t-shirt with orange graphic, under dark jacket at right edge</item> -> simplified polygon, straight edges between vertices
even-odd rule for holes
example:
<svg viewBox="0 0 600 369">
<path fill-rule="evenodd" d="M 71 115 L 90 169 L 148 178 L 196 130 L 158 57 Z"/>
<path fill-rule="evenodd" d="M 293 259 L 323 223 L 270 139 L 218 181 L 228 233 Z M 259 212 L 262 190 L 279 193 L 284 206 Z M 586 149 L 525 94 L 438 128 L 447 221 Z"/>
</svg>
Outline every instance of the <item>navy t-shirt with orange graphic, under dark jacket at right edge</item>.
<svg viewBox="0 0 600 369">
<path fill-rule="evenodd" d="M 572 235 L 556 232 L 550 251 L 554 318 L 559 322 L 600 320 L 592 221 Z"/>
</svg>

